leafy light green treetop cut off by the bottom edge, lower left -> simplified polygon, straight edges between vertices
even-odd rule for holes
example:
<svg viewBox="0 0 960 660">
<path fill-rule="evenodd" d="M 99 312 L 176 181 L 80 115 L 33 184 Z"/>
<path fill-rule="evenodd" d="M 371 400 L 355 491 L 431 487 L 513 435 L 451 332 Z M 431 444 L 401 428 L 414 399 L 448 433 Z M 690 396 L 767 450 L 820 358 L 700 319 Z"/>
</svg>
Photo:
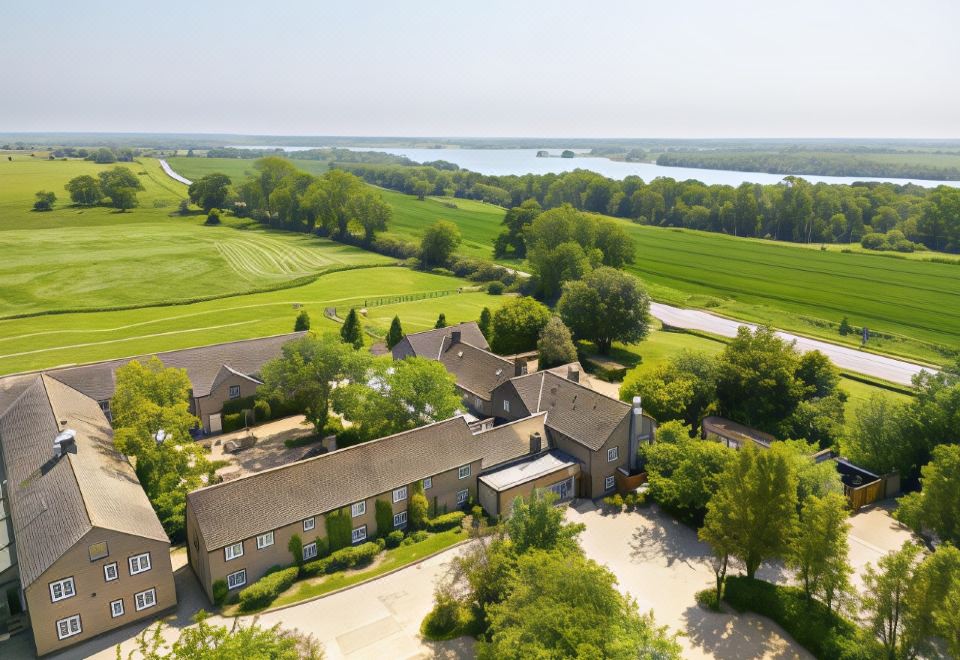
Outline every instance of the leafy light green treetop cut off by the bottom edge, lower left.
<svg viewBox="0 0 960 660">
<path fill-rule="evenodd" d="M 323 660 L 323 649 L 311 636 L 295 630 L 283 630 L 280 624 L 263 628 L 254 619 L 242 625 L 234 619 L 227 626 L 211 625 L 209 614 L 200 610 L 194 616 L 196 625 L 187 626 L 170 644 L 158 621 L 136 638 L 136 648 L 127 660 L 233 660 L 234 658 L 270 658 L 271 660 Z M 117 659 L 123 657 L 117 645 Z"/>
</svg>

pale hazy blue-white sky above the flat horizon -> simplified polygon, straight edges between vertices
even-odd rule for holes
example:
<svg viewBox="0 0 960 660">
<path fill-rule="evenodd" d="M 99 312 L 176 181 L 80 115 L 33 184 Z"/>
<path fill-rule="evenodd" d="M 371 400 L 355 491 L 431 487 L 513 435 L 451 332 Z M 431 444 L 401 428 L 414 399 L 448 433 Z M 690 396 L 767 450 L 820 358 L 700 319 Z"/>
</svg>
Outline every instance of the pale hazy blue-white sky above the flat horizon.
<svg viewBox="0 0 960 660">
<path fill-rule="evenodd" d="M 0 3 L 0 131 L 960 138 L 960 1 Z"/>
</svg>

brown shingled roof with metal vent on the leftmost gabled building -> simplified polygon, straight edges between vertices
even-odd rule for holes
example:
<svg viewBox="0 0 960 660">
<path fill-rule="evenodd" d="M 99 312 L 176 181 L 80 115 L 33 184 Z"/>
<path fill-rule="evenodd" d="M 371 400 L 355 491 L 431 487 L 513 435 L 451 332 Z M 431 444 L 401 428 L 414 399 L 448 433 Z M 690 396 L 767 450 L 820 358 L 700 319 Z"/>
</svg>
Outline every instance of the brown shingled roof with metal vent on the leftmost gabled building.
<svg viewBox="0 0 960 660">
<path fill-rule="evenodd" d="M 97 402 L 48 375 L 18 382 L 20 395 L 0 414 L 0 452 L 21 584 L 94 527 L 168 541 Z M 56 459 L 53 439 L 67 428 L 76 451 Z"/>
</svg>

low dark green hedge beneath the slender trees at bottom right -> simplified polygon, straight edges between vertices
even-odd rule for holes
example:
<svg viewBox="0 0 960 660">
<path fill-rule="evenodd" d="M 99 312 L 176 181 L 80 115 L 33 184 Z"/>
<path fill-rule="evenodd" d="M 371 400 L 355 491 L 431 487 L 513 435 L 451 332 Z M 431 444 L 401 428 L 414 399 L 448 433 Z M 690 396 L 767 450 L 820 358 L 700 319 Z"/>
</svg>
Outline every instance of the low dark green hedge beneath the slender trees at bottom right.
<svg viewBox="0 0 960 660">
<path fill-rule="evenodd" d="M 723 599 L 739 612 L 756 612 L 773 619 L 818 658 L 870 660 L 883 655 L 876 640 L 820 601 L 808 601 L 797 587 L 728 577 Z"/>
</svg>

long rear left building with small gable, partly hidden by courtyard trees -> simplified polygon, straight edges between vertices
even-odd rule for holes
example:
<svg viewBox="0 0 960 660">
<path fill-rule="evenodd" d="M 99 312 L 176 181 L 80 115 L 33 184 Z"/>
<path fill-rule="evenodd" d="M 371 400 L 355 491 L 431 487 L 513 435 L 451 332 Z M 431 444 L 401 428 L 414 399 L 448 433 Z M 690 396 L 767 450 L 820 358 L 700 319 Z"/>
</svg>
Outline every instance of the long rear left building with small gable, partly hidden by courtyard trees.
<svg viewBox="0 0 960 660">
<path fill-rule="evenodd" d="M 186 370 L 192 386 L 190 412 L 200 418 L 206 433 L 218 433 L 222 428 L 223 404 L 231 399 L 253 396 L 260 385 L 257 376 L 263 365 L 279 357 L 285 343 L 305 334 L 292 332 L 273 337 L 245 339 L 51 369 L 46 373 L 96 400 L 110 419 L 110 400 L 116 386 L 117 369 L 133 360 L 143 362 L 155 355 L 164 366 Z"/>
</svg>

